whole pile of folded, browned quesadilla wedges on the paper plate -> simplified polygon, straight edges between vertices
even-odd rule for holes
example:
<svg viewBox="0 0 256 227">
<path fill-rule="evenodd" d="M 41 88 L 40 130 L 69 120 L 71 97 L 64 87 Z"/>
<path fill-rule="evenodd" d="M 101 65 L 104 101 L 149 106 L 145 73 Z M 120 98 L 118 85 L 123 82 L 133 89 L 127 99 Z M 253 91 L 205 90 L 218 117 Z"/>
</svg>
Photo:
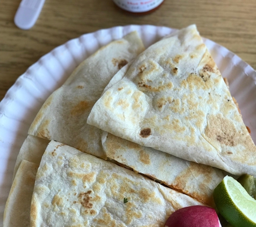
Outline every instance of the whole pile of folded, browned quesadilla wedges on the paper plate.
<svg viewBox="0 0 256 227">
<path fill-rule="evenodd" d="M 196 26 L 146 51 L 133 32 L 82 62 L 46 100 L 18 155 L 4 224 L 163 226 L 179 208 L 213 205 L 223 179 L 214 167 L 255 173 L 254 153 Z M 30 165 L 22 160 L 40 166 L 33 196 L 24 189 L 30 215 L 13 218 L 23 190 L 15 182 Z"/>
</svg>

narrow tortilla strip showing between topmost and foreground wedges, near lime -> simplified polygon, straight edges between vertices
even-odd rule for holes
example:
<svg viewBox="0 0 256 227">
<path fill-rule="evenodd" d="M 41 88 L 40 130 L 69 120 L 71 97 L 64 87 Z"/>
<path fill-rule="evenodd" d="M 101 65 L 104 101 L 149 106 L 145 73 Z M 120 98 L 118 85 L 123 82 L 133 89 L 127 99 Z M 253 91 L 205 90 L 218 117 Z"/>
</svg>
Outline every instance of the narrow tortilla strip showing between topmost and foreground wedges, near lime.
<svg viewBox="0 0 256 227">
<path fill-rule="evenodd" d="M 215 206 L 213 190 L 224 178 L 220 169 L 186 161 L 107 132 L 102 133 L 102 147 L 108 158 L 204 204 Z"/>
</svg>

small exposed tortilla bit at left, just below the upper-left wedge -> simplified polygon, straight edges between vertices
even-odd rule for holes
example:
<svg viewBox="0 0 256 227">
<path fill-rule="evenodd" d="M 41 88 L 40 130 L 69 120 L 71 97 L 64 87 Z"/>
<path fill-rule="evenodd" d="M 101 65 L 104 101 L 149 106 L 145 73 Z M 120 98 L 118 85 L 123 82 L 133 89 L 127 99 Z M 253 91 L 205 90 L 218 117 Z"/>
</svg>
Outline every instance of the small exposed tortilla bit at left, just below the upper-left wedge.
<svg viewBox="0 0 256 227">
<path fill-rule="evenodd" d="M 30 161 L 37 165 L 40 164 L 41 157 L 49 143 L 50 141 L 47 139 L 27 135 L 27 138 L 24 140 L 24 143 L 19 150 L 14 167 L 13 180 L 22 160 Z"/>
</svg>

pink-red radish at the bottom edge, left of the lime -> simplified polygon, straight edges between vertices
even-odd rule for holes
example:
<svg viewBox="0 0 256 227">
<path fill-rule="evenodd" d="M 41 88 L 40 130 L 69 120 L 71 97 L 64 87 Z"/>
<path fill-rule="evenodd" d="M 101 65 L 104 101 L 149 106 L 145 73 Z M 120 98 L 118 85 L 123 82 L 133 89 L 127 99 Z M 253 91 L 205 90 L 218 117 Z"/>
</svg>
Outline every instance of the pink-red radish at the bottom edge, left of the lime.
<svg viewBox="0 0 256 227">
<path fill-rule="evenodd" d="M 193 205 L 176 210 L 165 223 L 165 227 L 221 227 L 215 209 Z"/>
</svg>

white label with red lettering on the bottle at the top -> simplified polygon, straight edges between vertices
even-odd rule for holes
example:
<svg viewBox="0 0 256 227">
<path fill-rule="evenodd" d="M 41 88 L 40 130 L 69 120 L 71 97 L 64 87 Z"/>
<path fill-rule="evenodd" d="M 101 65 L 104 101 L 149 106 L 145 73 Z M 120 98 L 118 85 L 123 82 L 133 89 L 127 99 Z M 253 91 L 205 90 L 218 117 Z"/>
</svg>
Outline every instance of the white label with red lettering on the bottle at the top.
<svg viewBox="0 0 256 227">
<path fill-rule="evenodd" d="M 113 0 L 120 8 L 130 12 L 147 12 L 155 9 L 164 0 Z"/>
</svg>

